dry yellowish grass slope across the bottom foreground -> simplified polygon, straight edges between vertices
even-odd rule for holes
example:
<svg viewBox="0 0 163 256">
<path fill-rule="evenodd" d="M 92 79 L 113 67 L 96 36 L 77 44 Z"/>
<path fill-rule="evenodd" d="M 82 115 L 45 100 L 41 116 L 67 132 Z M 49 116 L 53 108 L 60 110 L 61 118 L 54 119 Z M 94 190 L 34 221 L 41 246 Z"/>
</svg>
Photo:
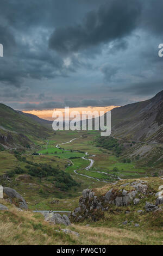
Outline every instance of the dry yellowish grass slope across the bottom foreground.
<svg viewBox="0 0 163 256">
<path fill-rule="evenodd" d="M 18 211 L 0 200 L 9 211 L 0 211 L 0 245 L 162 245 L 163 236 L 153 230 L 129 230 L 114 227 L 71 225 L 80 236 L 65 234 L 61 225 L 43 221 L 43 216 Z M 95 223 L 93 224 L 95 225 Z"/>
</svg>

